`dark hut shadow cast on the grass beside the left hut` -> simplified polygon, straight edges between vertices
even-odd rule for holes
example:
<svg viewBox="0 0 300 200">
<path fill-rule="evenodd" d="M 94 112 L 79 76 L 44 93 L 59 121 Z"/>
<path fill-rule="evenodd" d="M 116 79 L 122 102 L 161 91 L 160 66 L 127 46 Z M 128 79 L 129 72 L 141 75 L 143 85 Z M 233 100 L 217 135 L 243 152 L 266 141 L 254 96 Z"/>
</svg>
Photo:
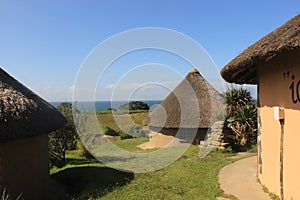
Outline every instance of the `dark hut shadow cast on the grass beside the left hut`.
<svg viewBox="0 0 300 200">
<path fill-rule="evenodd" d="M 77 167 L 53 174 L 52 178 L 64 185 L 66 199 L 94 199 L 126 185 L 134 174 L 108 167 Z"/>
</svg>

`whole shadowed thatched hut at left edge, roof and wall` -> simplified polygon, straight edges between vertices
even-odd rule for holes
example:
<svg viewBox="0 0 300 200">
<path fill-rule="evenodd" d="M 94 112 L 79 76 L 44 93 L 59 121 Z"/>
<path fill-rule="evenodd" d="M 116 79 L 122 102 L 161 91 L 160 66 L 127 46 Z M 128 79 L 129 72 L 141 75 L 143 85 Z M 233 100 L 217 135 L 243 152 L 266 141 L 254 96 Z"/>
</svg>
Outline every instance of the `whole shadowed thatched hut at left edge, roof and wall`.
<svg viewBox="0 0 300 200">
<path fill-rule="evenodd" d="M 0 185 L 14 199 L 42 199 L 48 187 L 47 134 L 66 119 L 0 68 Z"/>
</svg>

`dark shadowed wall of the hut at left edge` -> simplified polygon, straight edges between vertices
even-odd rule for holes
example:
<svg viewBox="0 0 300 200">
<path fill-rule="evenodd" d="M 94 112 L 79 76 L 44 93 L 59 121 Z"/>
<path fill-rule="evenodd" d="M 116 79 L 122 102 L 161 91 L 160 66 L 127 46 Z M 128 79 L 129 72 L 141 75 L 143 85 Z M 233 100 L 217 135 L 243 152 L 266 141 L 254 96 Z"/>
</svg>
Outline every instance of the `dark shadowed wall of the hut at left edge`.
<svg viewBox="0 0 300 200">
<path fill-rule="evenodd" d="M 12 199 L 42 199 L 49 181 L 48 136 L 0 143 L 0 185 Z M 16 170 L 18 169 L 18 170 Z"/>
</svg>

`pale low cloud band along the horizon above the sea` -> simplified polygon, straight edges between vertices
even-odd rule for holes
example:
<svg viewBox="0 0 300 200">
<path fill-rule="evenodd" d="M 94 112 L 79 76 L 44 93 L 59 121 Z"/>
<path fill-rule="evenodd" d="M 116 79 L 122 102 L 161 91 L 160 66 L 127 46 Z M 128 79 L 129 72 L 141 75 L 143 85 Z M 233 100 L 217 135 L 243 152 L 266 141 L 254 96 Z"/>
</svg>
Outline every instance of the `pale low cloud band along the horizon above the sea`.
<svg viewBox="0 0 300 200">
<path fill-rule="evenodd" d="M 47 101 L 72 101 L 73 91 L 75 89 L 76 101 L 96 101 L 105 100 L 126 100 L 126 99 L 143 99 L 143 100 L 159 100 L 164 99 L 180 82 L 178 81 L 161 81 L 161 82 L 131 82 L 108 84 L 96 88 L 75 88 L 74 85 L 69 87 L 47 86 L 47 87 L 30 87 L 35 93 L 40 95 Z M 223 89 L 223 85 L 219 82 L 211 83 L 216 89 Z M 225 84 L 225 91 L 227 89 Z M 256 98 L 257 92 L 255 86 L 243 86 L 250 89 L 252 96 Z M 219 90 L 220 91 L 220 90 Z"/>
</svg>

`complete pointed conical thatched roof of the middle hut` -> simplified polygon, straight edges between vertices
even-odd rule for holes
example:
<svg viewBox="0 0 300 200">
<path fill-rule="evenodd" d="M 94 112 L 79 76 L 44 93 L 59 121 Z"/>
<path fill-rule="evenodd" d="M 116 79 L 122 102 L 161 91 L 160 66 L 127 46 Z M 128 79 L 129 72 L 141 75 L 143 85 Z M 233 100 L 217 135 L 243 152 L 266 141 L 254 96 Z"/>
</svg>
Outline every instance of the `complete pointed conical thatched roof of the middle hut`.
<svg viewBox="0 0 300 200">
<path fill-rule="evenodd" d="M 213 106 L 212 106 L 213 104 Z M 150 127 L 208 128 L 224 106 L 223 96 L 191 69 L 183 81 L 144 121 Z"/>
</svg>

